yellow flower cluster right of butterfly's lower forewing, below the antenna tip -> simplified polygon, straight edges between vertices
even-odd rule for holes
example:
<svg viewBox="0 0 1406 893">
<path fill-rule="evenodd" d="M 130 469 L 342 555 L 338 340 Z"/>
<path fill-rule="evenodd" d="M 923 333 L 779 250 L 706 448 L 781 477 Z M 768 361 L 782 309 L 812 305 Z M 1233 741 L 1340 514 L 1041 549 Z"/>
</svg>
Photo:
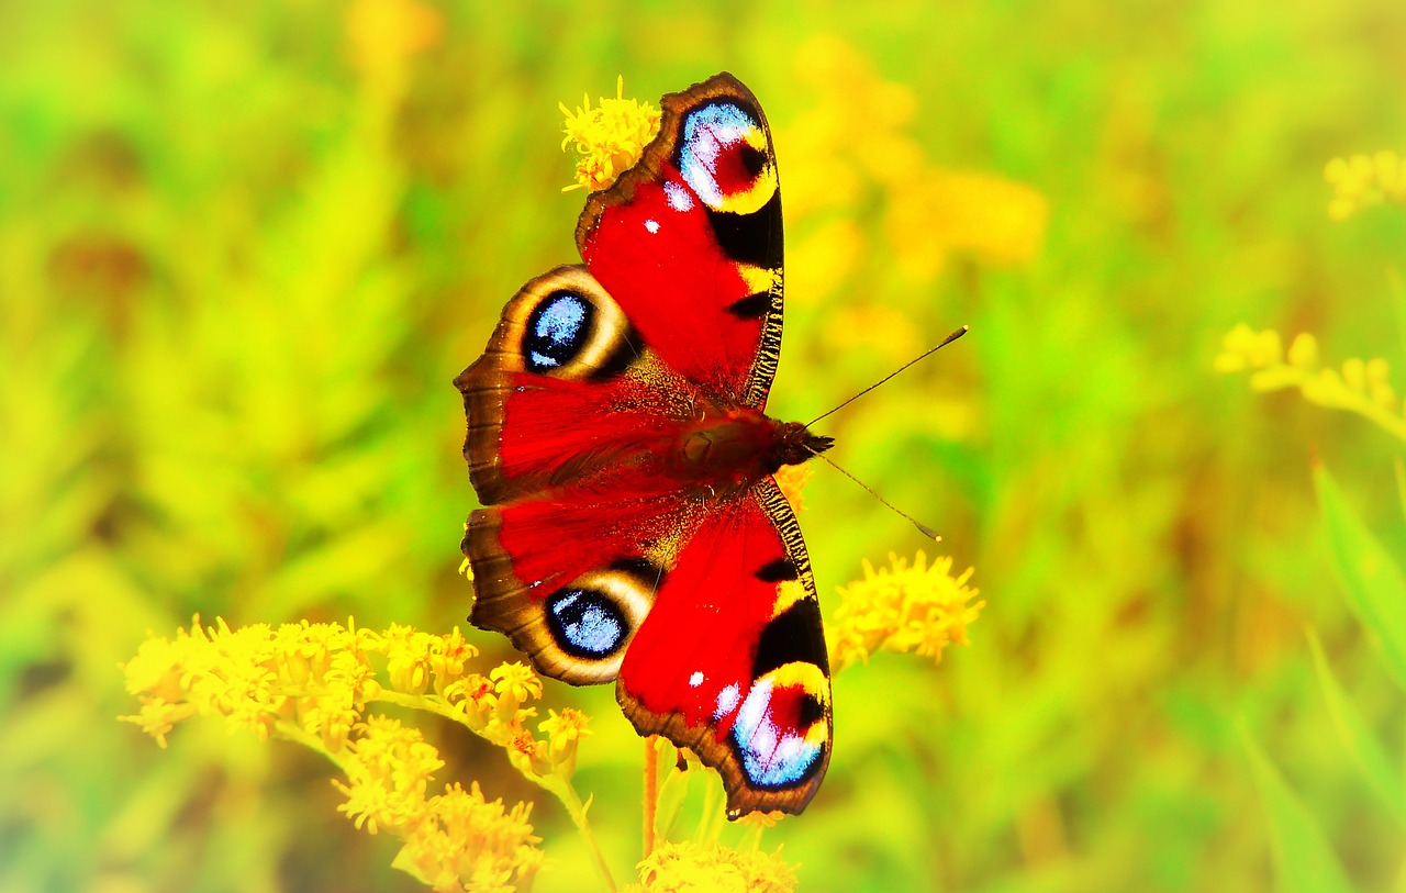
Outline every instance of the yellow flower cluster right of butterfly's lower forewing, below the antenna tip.
<svg viewBox="0 0 1406 893">
<path fill-rule="evenodd" d="M 838 671 L 869 660 L 875 651 L 915 653 L 942 660 L 949 644 L 966 644 L 966 629 L 986 608 L 967 588 L 972 568 L 952 577 L 952 558 L 941 555 L 928 565 L 918 553 L 910 567 L 890 555 L 891 568 L 875 571 L 865 563 L 865 578 L 841 589 L 839 608 L 828 624 L 830 662 Z"/>
</svg>

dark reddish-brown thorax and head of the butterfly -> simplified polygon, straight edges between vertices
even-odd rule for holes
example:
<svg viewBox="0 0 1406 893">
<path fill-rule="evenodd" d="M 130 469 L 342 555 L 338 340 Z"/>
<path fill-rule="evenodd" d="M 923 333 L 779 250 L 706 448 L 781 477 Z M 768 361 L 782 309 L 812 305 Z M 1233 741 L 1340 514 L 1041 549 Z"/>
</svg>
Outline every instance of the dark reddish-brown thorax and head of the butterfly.
<svg viewBox="0 0 1406 893">
<path fill-rule="evenodd" d="M 704 413 L 679 432 L 679 477 L 702 485 L 748 485 L 782 465 L 797 465 L 834 442 L 800 422 L 778 422 L 756 409 Z"/>
</svg>

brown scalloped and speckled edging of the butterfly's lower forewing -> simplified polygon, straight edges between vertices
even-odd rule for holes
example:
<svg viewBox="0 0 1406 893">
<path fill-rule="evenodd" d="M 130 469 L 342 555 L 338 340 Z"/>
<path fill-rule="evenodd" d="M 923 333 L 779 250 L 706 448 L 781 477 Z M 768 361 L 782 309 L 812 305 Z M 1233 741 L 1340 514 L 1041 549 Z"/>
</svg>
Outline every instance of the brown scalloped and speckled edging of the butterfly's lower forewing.
<svg viewBox="0 0 1406 893">
<path fill-rule="evenodd" d="M 806 553 L 800 523 L 796 520 L 796 512 L 792 509 L 790 502 L 786 501 L 780 487 L 776 485 L 776 480 L 770 475 L 754 485 L 754 494 L 766 512 L 766 516 L 776 525 L 787 557 L 796 564 L 797 579 L 806 591 L 803 598 L 813 599 L 818 605 L 820 596 L 815 592 L 815 577 L 810 568 L 810 555 Z M 823 657 L 821 669 L 828 681 L 828 658 Z M 815 796 L 815 792 L 820 790 L 820 783 L 830 768 L 835 724 L 834 710 L 828 699 L 825 702 L 825 748 L 821 752 L 820 764 L 801 783 L 789 789 L 749 786 L 737 751 L 728 741 L 720 741 L 711 726 L 690 727 L 678 713 L 651 713 L 644 709 L 637 698 L 626 692 L 620 683 L 616 685 L 616 702 L 640 735 L 664 735 L 676 747 L 693 751 L 704 765 L 718 772 L 723 778 L 723 788 L 727 792 L 727 817 L 730 820 L 737 820 L 755 811 L 782 811 L 799 816 L 811 797 Z"/>
</svg>

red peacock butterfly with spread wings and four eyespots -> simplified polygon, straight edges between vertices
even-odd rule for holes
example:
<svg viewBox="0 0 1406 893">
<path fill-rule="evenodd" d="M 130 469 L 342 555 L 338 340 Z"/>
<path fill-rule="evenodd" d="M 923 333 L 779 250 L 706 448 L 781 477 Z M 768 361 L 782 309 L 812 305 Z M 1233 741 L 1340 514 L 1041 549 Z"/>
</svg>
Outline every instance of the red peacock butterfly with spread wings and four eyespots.
<svg viewBox="0 0 1406 893">
<path fill-rule="evenodd" d="M 593 193 L 583 264 L 529 281 L 454 384 L 484 508 L 474 626 L 544 675 L 616 682 L 641 735 L 718 771 L 728 817 L 799 813 L 831 750 L 830 662 L 775 473 L 831 446 L 765 415 L 782 340 L 766 117 L 728 73 L 661 100 Z"/>
</svg>

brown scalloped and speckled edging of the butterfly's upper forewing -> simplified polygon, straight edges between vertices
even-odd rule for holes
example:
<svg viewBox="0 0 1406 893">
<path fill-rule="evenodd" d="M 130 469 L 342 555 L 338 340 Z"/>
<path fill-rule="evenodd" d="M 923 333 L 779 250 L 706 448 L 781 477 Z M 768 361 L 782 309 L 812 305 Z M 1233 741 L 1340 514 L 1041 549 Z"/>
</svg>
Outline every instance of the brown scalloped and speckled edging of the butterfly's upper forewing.
<svg viewBox="0 0 1406 893">
<path fill-rule="evenodd" d="M 772 128 L 766 122 L 766 114 L 756 96 L 747 89 L 747 84 L 734 77 L 730 72 L 720 72 L 707 80 L 702 80 L 686 90 L 668 93 L 659 100 L 662 117 L 659 120 L 658 135 L 644 148 L 644 153 L 634 167 L 620 174 L 609 188 L 592 193 L 586 200 L 586 207 L 576 219 L 576 250 L 585 256 L 586 240 L 591 231 L 596 228 L 600 215 L 607 208 L 626 204 L 634 197 L 636 188 L 641 183 L 651 183 L 662 179 L 659 173 L 665 162 L 672 160 L 679 142 L 679 127 L 685 115 L 697 105 L 716 98 L 738 100 L 742 105 L 756 113 L 756 120 L 766 132 L 766 149 L 773 163 L 776 159 L 776 145 L 772 142 Z M 776 180 L 778 195 L 780 194 L 780 173 Z M 776 377 L 776 367 L 782 354 L 782 308 L 783 308 L 783 277 L 785 264 L 778 263 L 776 284 L 770 290 L 770 305 L 766 318 L 762 321 L 762 333 L 756 342 L 756 353 L 747 374 L 747 391 L 741 398 L 741 405 L 761 409 L 766 405 L 766 397 L 772 390 L 772 380 Z"/>
</svg>

